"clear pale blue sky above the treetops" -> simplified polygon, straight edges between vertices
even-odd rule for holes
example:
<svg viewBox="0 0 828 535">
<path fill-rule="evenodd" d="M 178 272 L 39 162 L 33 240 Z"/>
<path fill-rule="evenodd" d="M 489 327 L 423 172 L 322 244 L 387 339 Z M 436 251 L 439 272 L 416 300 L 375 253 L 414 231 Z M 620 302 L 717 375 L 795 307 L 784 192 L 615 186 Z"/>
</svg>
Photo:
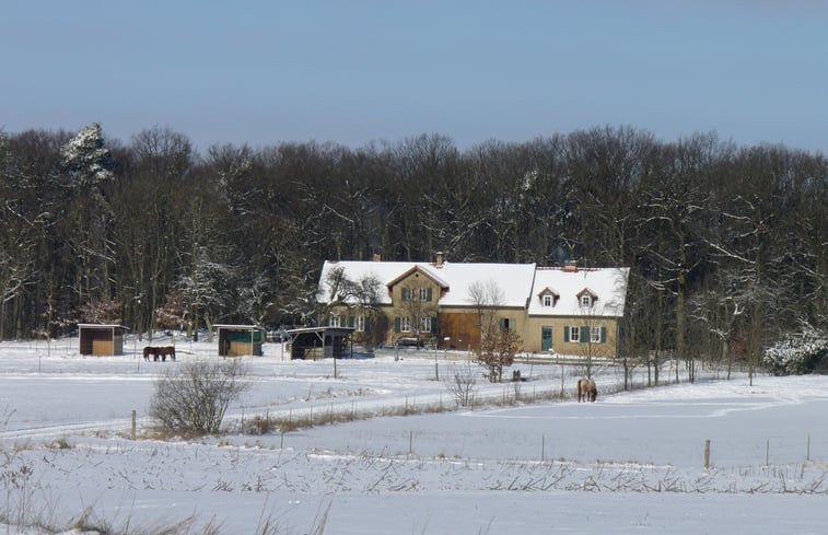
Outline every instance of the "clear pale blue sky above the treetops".
<svg viewBox="0 0 828 535">
<path fill-rule="evenodd" d="M 828 2 L 0 0 L 0 128 L 462 149 L 595 126 L 828 153 Z"/>
</svg>

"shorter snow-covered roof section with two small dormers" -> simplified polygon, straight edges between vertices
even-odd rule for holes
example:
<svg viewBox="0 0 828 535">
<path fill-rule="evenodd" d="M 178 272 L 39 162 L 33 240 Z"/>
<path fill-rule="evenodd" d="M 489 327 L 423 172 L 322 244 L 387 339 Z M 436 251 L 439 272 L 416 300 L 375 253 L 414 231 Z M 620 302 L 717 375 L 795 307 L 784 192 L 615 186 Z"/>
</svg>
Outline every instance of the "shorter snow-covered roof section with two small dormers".
<svg viewBox="0 0 828 535">
<path fill-rule="evenodd" d="M 538 268 L 528 314 L 532 316 L 622 316 L 630 268 Z M 555 289 L 555 306 L 544 306 L 540 294 Z M 579 295 L 595 296 L 592 307 L 581 306 Z"/>
</svg>

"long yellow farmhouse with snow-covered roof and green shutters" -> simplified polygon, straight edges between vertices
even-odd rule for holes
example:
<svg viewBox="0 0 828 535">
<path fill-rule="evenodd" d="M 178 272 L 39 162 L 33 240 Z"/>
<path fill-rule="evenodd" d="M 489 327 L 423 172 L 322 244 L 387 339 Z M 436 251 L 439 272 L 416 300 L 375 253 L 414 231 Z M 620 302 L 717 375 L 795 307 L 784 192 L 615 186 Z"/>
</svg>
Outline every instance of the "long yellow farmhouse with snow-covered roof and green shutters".
<svg viewBox="0 0 828 535">
<path fill-rule="evenodd" d="M 628 278 L 629 268 L 448 263 L 441 255 L 434 263 L 326 261 L 317 300 L 322 322 L 354 328 L 355 342 L 371 336 L 475 350 L 482 333 L 498 328 L 517 333 L 526 352 L 614 357 Z"/>
</svg>

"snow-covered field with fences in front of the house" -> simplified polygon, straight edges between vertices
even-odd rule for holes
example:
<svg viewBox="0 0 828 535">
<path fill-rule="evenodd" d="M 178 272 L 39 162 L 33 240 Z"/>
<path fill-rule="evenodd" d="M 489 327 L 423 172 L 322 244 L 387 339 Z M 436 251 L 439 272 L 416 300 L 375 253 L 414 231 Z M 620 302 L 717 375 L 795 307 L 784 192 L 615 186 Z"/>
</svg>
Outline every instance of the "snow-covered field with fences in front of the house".
<svg viewBox="0 0 828 535">
<path fill-rule="evenodd" d="M 335 376 L 330 359 L 284 361 L 266 345 L 243 358 L 252 386 L 231 434 L 161 441 L 147 416 L 155 379 L 218 357 L 179 340 L 177 362 L 148 363 L 142 346 L 95 358 L 77 339 L 0 344 L 0 534 L 84 510 L 128 533 L 185 519 L 188 533 L 212 522 L 238 535 L 265 522 L 328 535 L 828 533 L 827 376 L 751 386 L 708 372 L 623 393 L 602 365 L 597 403 L 578 404 L 582 369 L 520 363 L 527 381 L 480 382 L 474 409 L 432 411 L 454 408 L 446 380 L 466 354 L 378 352 L 337 361 Z M 392 411 L 411 415 L 368 418 Z M 325 414 L 354 421 L 242 431 L 265 415 Z"/>
</svg>

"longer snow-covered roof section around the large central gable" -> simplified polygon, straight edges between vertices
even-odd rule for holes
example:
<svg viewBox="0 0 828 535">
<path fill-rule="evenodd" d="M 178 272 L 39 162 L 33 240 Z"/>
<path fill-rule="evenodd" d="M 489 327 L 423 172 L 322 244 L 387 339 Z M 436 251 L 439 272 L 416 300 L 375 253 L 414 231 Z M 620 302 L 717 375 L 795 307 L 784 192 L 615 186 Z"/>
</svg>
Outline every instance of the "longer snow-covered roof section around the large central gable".
<svg viewBox="0 0 828 535">
<path fill-rule="evenodd" d="M 474 301 L 469 295 L 469 288 L 475 283 L 488 284 L 493 281 L 502 292 L 501 306 L 524 309 L 535 276 L 535 264 L 455 264 L 445 261 L 438 266 L 427 261 L 326 260 L 319 278 L 320 291 L 317 296 L 319 302 L 328 302 L 330 291 L 325 281 L 328 274 L 337 268 L 345 269 L 345 276 L 351 281 L 358 281 L 364 277 L 375 277 L 383 284 L 397 281 L 400 276 L 415 268 L 419 269 L 420 272 L 432 278 L 434 282 L 448 289 L 440 300 L 441 306 L 471 306 Z M 380 303 L 392 304 L 390 295 L 383 292 L 380 296 Z"/>
</svg>

